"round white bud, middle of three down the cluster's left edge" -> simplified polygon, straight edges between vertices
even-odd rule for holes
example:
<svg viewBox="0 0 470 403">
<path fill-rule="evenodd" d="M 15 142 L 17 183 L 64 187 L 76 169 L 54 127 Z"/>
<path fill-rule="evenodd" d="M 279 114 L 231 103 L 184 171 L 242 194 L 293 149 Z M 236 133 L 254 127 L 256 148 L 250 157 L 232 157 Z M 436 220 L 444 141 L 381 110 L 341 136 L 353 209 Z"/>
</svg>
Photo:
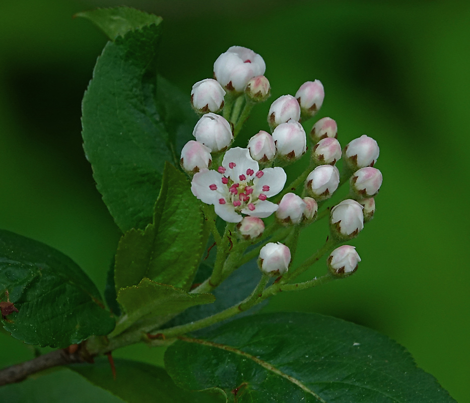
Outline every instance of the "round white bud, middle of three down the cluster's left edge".
<svg viewBox="0 0 470 403">
<path fill-rule="evenodd" d="M 233 141 L 232 126 L 220 115 L 209 112 L 203 115 L 192 131 L 199 143 L 217 152 L 226 149 Z"/>
</svg>

